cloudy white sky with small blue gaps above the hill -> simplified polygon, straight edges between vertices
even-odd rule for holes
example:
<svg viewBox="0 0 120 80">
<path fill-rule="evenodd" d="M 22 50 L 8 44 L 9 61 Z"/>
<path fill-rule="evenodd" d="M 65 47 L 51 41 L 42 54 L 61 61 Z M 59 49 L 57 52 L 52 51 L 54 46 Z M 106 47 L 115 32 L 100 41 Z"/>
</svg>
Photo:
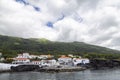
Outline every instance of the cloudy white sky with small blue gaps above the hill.
<svg viewBox="0 0 120 80">
<path fill-rule="evenodd" d="M 120 50 L 120 0 L 0 0 L 0 34 Z"/>
</svg>

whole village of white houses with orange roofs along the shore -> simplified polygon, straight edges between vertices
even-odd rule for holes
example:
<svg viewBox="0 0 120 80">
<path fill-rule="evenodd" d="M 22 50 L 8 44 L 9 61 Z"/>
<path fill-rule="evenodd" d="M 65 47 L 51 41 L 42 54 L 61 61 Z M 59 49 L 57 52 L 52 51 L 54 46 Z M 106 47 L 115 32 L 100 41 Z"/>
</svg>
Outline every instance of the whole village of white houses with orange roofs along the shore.
<svg viewBox="0 0 120 80">
<path fill-rule="evenodd" d="M 0 53 L 2 56 L 2 53 Z M 3 57 L 0 61 L 4 61 Z M 9 66 L 5 63 L 1 63 L 1 69 L 10 69 L 11 66 L 18 65 L 39 65 L 39 67 L 53 67 L 53 68 L 64 68 L 64 67 L 81 67 L 90 63 L 88 58 L 82 58 L 76 55 L 60 55 L 55 59 L 54 55 L 30 55 L 29 53 L 18 54 L 14 58 L 7 58 L 7 60 L 12 60 Z M 4 66 L 2 66 L 4 65 Z"/>
</svg>

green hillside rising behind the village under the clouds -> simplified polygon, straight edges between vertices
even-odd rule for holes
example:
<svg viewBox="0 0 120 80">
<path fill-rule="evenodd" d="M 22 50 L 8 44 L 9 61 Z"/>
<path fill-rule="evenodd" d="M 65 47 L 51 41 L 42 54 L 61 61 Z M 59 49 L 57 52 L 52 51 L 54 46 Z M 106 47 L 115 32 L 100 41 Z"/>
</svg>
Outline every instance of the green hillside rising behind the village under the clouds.
<svg viewBox="0 0 120 80">
<path fill-rule="evenodd" d="M 83 42 L 52 42 L 47 39 L 23 39 L 0 35 L 0 52 L 6 57 L 16 56 L 18 53 L 31 54 L 116 54 L 120 51 L 86 44 Z"/>
</svg>

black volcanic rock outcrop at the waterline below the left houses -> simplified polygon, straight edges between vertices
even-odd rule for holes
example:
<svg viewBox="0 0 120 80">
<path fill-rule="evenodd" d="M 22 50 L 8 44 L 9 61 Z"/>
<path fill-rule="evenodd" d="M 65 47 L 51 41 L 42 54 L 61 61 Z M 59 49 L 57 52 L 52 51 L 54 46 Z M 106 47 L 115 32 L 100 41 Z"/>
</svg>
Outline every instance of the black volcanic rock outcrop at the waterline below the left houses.
<svg viewBox="0 0 120 80">
<path fill-rule="evenodd" d="M 35 71 L 39 68 L 38 65 L 19 65 L 19 66 L 16 66 L 16 67 L 11 67 L 11 70 L 12 71 L 18 71 L 18 72 L 21 72 L 21 71 Z"/>
</svg>

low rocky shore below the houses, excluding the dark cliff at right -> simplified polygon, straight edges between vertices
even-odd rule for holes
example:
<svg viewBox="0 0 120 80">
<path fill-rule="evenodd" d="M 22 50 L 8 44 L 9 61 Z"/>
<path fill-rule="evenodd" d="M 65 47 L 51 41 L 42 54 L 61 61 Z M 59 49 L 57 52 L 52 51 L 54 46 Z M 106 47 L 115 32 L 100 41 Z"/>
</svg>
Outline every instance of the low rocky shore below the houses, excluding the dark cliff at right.
<svg viewBox="0 0 120 80">
<path fill-rule="evenodd" d="M 12 72 L 36 71 L 36 72 L 73 72 L 85 70 L 85 67 L 39 67 L 38 65 L 20 65 L 11 67 Z"/>
</svg>

